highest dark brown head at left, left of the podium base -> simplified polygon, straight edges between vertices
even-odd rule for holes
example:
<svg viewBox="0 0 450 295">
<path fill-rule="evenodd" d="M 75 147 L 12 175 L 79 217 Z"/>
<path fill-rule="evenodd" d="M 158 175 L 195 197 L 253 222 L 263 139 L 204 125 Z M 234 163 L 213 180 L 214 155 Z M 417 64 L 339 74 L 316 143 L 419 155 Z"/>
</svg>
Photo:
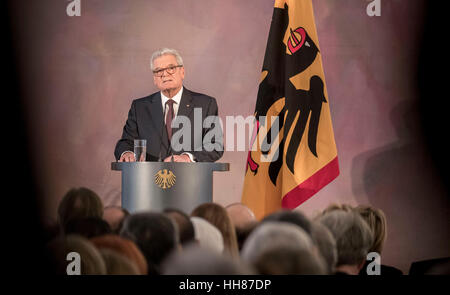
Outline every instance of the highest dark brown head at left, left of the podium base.
<svg viewBox="0 0 450 295">
<path fill-rule="evenodd" d="M 102 218 L 102 216 L 102 200 L 95 192 L 85 187 L 69 190 L 59 203 L 58 223 L 61 228 L 74 218 Z"/>
</svg>

